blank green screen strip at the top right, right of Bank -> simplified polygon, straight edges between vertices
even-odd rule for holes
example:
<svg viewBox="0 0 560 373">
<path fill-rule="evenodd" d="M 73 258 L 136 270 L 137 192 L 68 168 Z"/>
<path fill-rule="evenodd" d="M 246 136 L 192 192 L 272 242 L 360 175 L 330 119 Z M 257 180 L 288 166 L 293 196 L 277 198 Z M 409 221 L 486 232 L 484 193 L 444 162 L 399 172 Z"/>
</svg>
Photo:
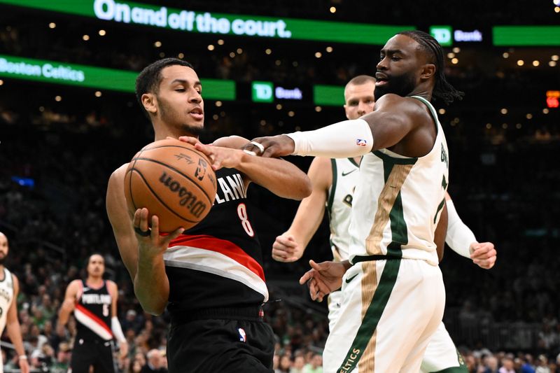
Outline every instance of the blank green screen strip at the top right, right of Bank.
<svg viewBox="0 0 560 373">
<path fill-rule="evenodd" d="M 495 26 L 492 34 L 498 46 L 560 46 L 560 26 Z"/>
</svg>

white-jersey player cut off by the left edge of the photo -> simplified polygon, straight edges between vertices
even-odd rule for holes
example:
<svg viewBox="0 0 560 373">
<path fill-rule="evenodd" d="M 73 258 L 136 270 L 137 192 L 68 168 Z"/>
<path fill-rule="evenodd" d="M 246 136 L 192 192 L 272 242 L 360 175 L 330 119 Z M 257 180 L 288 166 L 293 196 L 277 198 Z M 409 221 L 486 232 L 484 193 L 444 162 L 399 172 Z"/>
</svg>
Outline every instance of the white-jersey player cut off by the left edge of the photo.
<svg viewBox="0 0 560 373">
<path fill-rule="evenodd" d="M 4 267 L 6 257 L 8 257 L 8 237 L 0 232 L 0 335 L 4 328 L 8 330 L 8 337 L 12 341 L 15 352 L 18 353 L 18 363 L 22 373 L 29 373 L 29 363 L 25 349 L 23 349 L 22 331 L 18 320 L 18 293 L 20 292 L 20 282 L 15 274 Z M 3 362 L 0 355 L 0 373 L 3 372 Z"/>
</svg>

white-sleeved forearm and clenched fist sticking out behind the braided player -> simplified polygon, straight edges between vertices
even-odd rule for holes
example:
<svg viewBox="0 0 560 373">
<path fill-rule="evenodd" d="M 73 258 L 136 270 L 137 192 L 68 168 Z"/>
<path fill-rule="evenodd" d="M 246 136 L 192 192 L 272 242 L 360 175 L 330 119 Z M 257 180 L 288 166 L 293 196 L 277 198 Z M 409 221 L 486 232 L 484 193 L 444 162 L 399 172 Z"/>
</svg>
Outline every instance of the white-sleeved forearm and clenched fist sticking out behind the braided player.
<svg viewBox="0 0 560 373">
<path fill-rule="evenodd" d="M 458 216 L 451 196 L 446 193 L 445 198 L 447 199 L 449 214 L 449 227 L 447 228 L 445 243 L 459 255 L 472 259 L 475 265 L 484 269 L 491 269 L 496 264 L 497 259 L 494 244 L 478 242 L 472 230 Z"/>
</svg>

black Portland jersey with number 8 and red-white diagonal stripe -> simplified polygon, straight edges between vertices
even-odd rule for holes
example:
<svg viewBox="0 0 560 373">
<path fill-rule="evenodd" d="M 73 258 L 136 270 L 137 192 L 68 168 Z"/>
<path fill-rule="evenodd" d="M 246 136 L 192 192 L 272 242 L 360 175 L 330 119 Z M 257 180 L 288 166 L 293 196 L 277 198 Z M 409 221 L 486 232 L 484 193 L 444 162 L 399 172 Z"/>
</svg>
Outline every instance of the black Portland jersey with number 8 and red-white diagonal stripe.
<svg viewBox="0 0 560 373">
<path fill-rule="evenodd" d="M 241 173 L 219 169 L 216 178 L 216 201 L 206 218 L 174 239 L 164 253 L 172 316 L 268 300 L 262 253 Z"/>
</svg>

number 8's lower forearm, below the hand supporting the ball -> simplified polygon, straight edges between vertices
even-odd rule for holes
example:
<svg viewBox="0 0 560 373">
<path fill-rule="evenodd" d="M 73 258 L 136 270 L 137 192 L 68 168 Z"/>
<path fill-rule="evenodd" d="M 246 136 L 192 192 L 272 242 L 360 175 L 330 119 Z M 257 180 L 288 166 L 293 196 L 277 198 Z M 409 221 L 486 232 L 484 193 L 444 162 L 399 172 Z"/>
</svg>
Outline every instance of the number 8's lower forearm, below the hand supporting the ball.
<svg viewBox="0 0 560 373">
<path fill-rule="evenodd" d="M 163 256 L 151 258 L 140 254 L 137 268 L 134 294 L 142 309 L 153 315 L 162 314 L 169 300 L 169 279 L 165 273 Z"/>
</svg>

